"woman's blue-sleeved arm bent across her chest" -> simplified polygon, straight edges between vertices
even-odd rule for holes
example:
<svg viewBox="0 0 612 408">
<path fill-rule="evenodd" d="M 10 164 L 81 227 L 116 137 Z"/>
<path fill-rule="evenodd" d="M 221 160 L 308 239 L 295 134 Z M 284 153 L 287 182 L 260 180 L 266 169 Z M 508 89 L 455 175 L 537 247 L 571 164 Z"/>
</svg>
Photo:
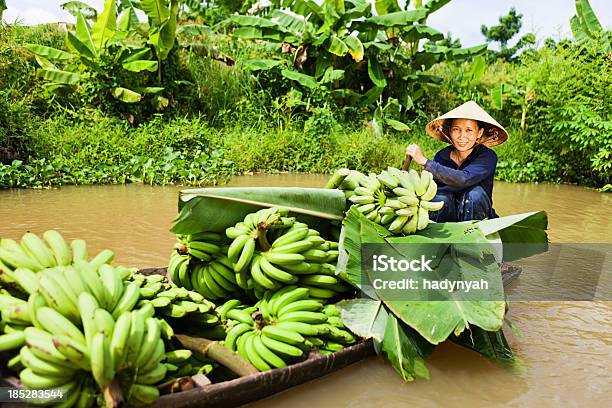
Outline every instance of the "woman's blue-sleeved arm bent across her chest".
<svg viewBox="0 0 612 408">
<path fill-rule="evenodd" d="M 462 190 L 480 183 L 482 180 L 495 173 L 497 166 L 497 155 L 487 152 L 461 170 L 451 169 L 432 160 L 425 162 L 425 170 L 433 174 L 435 180 L 439 180 L 451 188 Z"/>
</svg>

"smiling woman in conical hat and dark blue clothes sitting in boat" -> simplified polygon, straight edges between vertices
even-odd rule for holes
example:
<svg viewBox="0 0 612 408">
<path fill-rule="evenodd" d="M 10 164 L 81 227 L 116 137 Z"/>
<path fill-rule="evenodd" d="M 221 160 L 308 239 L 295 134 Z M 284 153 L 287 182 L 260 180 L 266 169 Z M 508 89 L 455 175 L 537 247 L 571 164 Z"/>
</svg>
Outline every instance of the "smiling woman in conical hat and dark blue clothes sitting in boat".
<svg viewBox="0 0 612 408">
<path fill-rule="evenodd" d="M 436 222 L 497 218 L 493 209 L 493 176 L 497 155 L 489 147 L 505 142 L 508 132 L 476 102 L 432 120 L 425 128 L 434 139 L 450 143 L 433 161 L 416 144 L 406 148 L 406 156 L 425 167 L 438 183 L 433 201 L 444 201 L 438 212 L 430 212 Z"/>
</svg>

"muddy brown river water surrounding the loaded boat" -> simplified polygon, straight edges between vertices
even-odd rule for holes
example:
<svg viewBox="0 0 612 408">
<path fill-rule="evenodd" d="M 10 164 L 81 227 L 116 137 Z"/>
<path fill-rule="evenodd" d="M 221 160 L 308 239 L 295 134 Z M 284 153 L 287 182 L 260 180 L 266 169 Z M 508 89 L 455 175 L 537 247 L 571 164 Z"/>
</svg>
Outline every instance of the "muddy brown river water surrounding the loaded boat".
<svg viewBox="0 0 612 408">
<path fill-rule="evenodd" d="M 229 186 L 320 187 L 326 179 L 255 175 L 236 177 Z M 127 185 L 0 191 L 0 237 L 54 228 L 69 239 L 86 239 L 90 253 L 113 249 L 117 263 L 165 265 L 179 190 Z M 612 194 L 497 182 L 494 206 L 500 215 L 546 210 L 553 243 L 612 243 Z M 513 369 L 443 344 L 428 360 L 429 381 L 404 383 L 390 365 L 370 358 L 252 406 L 610 406 L 612 302 L 515 302 L 509 317 L 522 332 L 507 332 L 520 359 Z"/>
</svg>

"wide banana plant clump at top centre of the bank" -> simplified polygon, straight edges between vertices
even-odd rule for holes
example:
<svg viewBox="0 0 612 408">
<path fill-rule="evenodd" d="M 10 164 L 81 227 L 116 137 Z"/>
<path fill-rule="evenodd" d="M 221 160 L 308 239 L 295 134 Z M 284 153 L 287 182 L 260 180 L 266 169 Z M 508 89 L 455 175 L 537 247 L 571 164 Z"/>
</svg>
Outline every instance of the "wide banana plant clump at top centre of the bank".
<svg viewBox="0 0 612 408">
<path fill-rule="evenodd" d="M 306 88 L 320 84 L 331 69 L 338 72 L 328 85 L 338 91 L 334 95 L 357 96 L 365 107 L 375 105 L 381 96 L 399 94 L 389 84 L 401 81 L 411 90 L 402 94 L 412 95 L 401 103 L 411 108 L 413 100 L 424 95 L 424 87 L 441 81 L 425 70 L 447 59 L 472 58 L 486 49 L 486 45 L 469 49 L 429 45 L 444 36 L 425 25 L 427 17 L 449 1 L 430 0 L 402 10 L 397 0 L 375 0 L 374 4 L 369 0 L 285 0 L 283 8 L 266 17 L 234 15 L 230 20 L 234 37 L 267 41 L 280 50 L 275 59 L 250 60 L 245 66 L 282 70 L 285 78 Z M 422 47 L 424 40 L 429 43 Z"/>
</svg>

